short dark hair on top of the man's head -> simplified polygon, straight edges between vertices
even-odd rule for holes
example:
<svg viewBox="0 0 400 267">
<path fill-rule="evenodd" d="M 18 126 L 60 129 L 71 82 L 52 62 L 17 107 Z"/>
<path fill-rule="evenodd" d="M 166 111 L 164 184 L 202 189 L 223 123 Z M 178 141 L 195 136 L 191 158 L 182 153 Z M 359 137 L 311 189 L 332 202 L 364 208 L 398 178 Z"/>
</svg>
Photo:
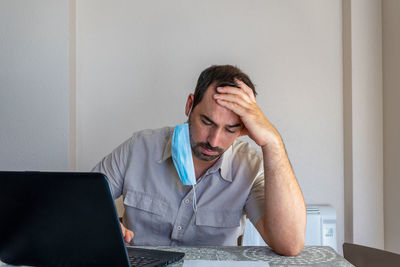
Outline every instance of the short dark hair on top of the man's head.
<svg viewBox="0 0 400 267">
<path fill-rule="evenodd" d="M 218 86 L 235 86 L 235 78 L 244 82 L 253 90 L 254 96 L 257 95 L 256 89 L 251 82 L 249 76 L 242 72 L 238 67 L 232 65 L 213 65 L 203 70 L 197 80 L 196 89 L 194 90 L 194 100 L 192 110 L 201 102 L 207 88 L 214 82 Z"/>
</svg>

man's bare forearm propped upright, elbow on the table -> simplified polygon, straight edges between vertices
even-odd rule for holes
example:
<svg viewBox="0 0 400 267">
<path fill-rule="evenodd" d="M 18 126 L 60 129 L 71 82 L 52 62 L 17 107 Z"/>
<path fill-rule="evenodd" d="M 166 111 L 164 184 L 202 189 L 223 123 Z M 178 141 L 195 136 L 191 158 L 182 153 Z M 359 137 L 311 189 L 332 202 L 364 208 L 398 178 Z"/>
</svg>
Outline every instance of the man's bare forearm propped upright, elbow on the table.
<svg viewBox="0 0 400 267">
<path fill-rule="evenodd" d="M 304 246 L 303 194 L 280 137 L 262 147 L 265 177 L 264 233 L 277 253 L 297 255 Z"/>
</svg>

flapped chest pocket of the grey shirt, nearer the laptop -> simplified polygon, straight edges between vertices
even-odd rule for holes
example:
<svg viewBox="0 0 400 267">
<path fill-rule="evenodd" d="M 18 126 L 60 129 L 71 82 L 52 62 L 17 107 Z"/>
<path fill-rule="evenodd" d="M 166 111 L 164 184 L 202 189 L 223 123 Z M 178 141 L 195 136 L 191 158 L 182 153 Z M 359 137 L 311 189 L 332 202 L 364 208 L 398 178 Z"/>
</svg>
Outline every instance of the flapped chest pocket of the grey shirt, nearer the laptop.
<svg viewBox="0 0 400 267">
<path fill-rule="evenodd" d="M 168 204 L 152 194 L 129 190 L 124 198 L 125 219 L 134 231 L 137 245 L 158 244 L 172 231 Z"/>
</svg>

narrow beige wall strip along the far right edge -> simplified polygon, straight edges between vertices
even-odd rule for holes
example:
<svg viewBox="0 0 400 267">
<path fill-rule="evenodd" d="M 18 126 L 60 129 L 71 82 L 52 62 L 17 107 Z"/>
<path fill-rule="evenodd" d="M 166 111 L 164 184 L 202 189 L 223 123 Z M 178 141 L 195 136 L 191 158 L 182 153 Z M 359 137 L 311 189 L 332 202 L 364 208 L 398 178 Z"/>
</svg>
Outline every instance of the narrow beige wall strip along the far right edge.
<svg viewBox="0 0 400 267">
<path fill-rule="evenodd" d="M 383 1 L 385 249 L 400 253 L 400 1 Z"/>
</svg>

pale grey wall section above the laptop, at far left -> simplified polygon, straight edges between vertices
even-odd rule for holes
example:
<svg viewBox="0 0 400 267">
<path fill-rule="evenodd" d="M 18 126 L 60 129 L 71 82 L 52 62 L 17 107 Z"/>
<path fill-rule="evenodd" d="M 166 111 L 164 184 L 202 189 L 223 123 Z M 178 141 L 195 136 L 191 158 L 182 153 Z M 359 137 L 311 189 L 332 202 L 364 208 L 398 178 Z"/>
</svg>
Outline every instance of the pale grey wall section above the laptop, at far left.
<svg viewBox="0 0 400 267">
<path fill-rule="evenodd" d="M 0 2 L 0 170 L 68 169 L 68 5 Z"/>
</svg>

